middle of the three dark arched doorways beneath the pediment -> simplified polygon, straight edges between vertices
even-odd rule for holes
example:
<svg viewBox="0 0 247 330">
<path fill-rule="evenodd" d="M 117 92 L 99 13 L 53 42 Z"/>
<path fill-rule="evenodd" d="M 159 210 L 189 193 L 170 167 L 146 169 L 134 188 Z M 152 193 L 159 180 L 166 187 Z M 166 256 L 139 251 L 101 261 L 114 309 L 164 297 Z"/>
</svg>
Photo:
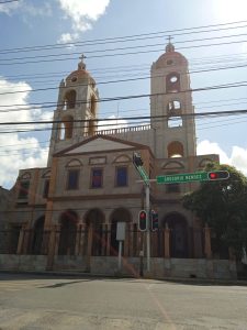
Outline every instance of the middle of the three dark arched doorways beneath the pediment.
<svg viewBox="0 0 247 330">
<path fill-rule="evenodd" d="M 103 238 L 104 215 L 100 209 L 92 209 L 86 215 L 86 235 L 88 255 L 105 255 L 106 242 Z"/>
</svg>

